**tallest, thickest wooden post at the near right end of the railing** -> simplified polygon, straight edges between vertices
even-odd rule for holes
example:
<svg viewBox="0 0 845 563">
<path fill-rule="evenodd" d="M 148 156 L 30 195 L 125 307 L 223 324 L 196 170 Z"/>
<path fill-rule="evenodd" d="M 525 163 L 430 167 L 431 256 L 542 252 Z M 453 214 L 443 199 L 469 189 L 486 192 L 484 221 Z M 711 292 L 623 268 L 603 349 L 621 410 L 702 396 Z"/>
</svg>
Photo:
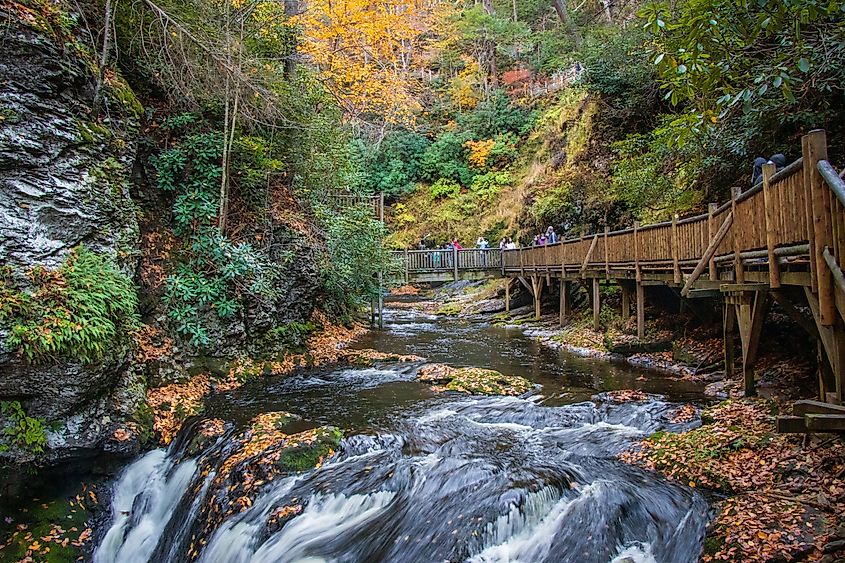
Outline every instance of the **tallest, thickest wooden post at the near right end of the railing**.
<svg viewBox="0 0 845 563">
<path fill-rule="evenodd" d="M 810 186 L 813 194 L 813 230 L 815 235 L 816 281 L 819 292 L 819 313 L 822 326 L 833 326 L 836 320 L 836 301 L 833 295 L 833 273 L 824 260 L 824 249 L 833 246 L 833 233 L 830 228 L 830 198 L 824 179 L 819 174 L 817 164 L 827 160 L 827 139 L 821 129 L 810 131 L 807 135 L 810 168 Z"/>
</svg>

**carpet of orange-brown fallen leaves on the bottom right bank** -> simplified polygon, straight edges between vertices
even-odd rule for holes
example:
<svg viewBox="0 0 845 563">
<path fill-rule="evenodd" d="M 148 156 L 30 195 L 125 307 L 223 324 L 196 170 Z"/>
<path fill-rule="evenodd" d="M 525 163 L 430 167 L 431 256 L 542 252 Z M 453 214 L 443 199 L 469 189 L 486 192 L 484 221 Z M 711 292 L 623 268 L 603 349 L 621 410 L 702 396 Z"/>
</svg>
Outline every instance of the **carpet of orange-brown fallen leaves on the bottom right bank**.
<svg viewBox="0 0 845 563">
<path fill-rule="evenodd" d="M 813 437 L 802 445 L 800 437 L 777 434 L 773 407 L 759 399 L 725 401 L 702 412 L 703 426 L 658 432 L 621 456 L 689 486 L 733 495 L 715 506 L 703 561 L 817 560 L 841 523 L 842 439 Z"/>
</svg>

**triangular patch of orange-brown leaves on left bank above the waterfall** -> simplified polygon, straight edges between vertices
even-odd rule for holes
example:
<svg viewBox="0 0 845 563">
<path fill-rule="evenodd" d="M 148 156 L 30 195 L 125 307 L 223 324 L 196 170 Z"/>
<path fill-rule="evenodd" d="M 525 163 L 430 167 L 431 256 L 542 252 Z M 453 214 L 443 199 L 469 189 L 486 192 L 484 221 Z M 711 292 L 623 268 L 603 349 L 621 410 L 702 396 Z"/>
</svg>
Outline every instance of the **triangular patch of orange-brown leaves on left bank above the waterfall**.
<svg viewBox="0 0 845 563">
<path fill-rule="evenodd" d="M 147 403 L 153 410 L 153 430 L 162 444 L 173 441 L 182 421 L 199 412 L 202 401 L 211 392 L 206 374 L 194 376 L 186 383 L 173 383 L 147 391 Z"/>
</svg>

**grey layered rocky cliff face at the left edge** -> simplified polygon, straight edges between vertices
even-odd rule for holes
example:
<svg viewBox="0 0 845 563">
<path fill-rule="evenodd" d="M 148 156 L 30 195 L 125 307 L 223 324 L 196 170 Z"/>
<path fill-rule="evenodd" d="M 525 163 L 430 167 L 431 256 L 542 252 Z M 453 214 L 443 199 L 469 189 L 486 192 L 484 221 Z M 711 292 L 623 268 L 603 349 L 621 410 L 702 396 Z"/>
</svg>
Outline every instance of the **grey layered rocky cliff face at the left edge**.
<svg viewBox="0 0 845 563">
<path fill-rule="evenodd" d="M 132 275 L 138 223 L 129 196 L 138 106 L 106 77 L 92 114 L 93 49 L 73 17 L 0 2 L 0 264 L 21 285 L 35 266 L 57 267 L 78 245 L 117 259 Z M 0 401 L 58 421 L 49 455 L 99 445 L 114 421 L 137 407 L 143 386 L 127 378 L 127 352 L 99 364 L 29 365 L 0 330 Z M 126 389 L 140 390 L 127 395 Z"/>
</svg>

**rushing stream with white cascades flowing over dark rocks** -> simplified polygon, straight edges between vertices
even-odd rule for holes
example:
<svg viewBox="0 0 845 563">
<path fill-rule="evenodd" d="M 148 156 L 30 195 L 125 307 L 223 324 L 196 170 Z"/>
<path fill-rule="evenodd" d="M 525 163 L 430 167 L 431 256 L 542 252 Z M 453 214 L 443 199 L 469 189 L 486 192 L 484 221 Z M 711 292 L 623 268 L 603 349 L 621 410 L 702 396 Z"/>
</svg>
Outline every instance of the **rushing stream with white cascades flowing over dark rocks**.
<svg viewBox="0 0 845 563">
<path fill-rule="evenodd" d="M 658 429 L 678 431 L 663 399 L 588 401 L 613 388 L 689 398 L 692 387 L 538 348 L 517 330 L 392 311 L 361 346 L 476 365 L 542 384 L 529 397 L 438 393 L 416 364 L 256 380 L 213 397 L 227 431 L 198 456 L 195 424 L 116 479 L 97 562 L 678 562 L 697 559 L 708 505 L 694 490 L 616 455 Z M 201 545 L 191 530 L 239 425 L 288 411 L 297 431 L 331 424 L 346 438 L 317 469 L 260 489 Z M 222 458 L 222 457 L 221 457 Z M 203 470 L 202 468 L 206 469 Z M 280 527 L 280 507 L 298 511 Z"/>
</svg>

